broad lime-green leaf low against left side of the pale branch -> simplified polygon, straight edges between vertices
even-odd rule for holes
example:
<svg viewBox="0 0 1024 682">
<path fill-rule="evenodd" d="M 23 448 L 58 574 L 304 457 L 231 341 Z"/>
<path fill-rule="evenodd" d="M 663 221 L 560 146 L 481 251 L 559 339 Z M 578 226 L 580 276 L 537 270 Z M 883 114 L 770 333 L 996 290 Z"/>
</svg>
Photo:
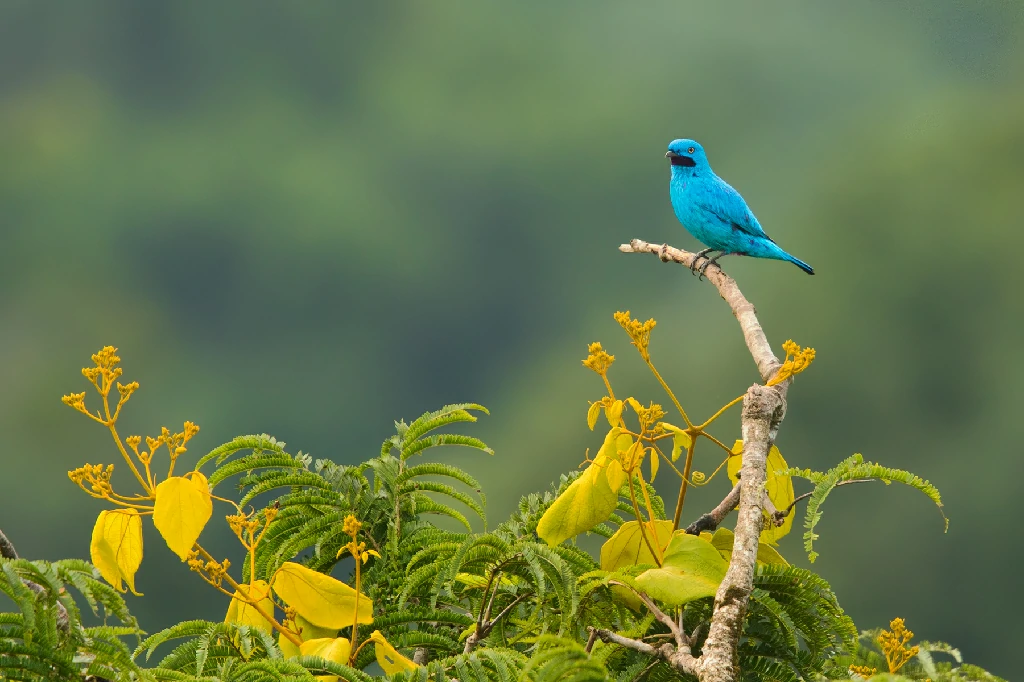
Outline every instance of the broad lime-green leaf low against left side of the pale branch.
<svg viewBox="0 0 1024 682">
<path fill-rule="evenodd" d="M 714 596 L 728 567 L 711 543 L 679 530 L 669 543 L 662 567 L 640 573 L 637 585 L 648 596 L 679 606 Z"/>
</svg>

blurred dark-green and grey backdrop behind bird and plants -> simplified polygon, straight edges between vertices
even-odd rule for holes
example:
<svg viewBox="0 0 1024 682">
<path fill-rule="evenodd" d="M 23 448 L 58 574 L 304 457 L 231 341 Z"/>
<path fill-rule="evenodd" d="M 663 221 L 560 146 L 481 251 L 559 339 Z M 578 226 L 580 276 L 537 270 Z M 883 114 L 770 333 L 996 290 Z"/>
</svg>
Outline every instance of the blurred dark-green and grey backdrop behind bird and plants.
<svg viewBox="0 0 1024 682">
<path fill-rule="evenodd" d="M 655 363 L 710 415 L 757 380 L 731 314 L 682 268 L 616 251 L 695 246 L 663 159 L 689 136 L 818 272 L 724 261 L 776 347 L 818 350 L 790 394 L 790 463 L 911 469 L 951 519 L 944 536 L 907 488 L 841 489 L 815 569 L 861 628 L 902 615 L 1009 675 L 1022 40 L 1020 2 L 5 0 L 0 527 L 29 558 L 87 556 L 103 506 L 66 472 L 118 458 L 59 398 L 103 344 L 142 384 L 122 432 L 194 420 L 194 457 L 268 432 L 354 463 L 393 419 L 482 402 L 469 430 L 497 454 L 446 457 L 495 520 L 599 444 L 589 342 L 617 355 L 616 392 L 667 402 L 616 309 L 658 319 Z M 737 431 L 734 411 L 716 433 Z M 144 628 L 222 617 L 146 543 Z M 799 531 L 783 552 L 806 565 Z"/>
</svg>

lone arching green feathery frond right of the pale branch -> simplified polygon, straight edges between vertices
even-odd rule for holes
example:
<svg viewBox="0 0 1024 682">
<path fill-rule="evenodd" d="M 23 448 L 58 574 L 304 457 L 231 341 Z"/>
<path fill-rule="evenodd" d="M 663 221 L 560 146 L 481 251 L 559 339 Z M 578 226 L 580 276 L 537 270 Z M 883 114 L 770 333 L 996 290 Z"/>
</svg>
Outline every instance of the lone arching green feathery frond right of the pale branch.
<svg viewBox="0 0 1024 682">
<path fill-rule="evenodd" d="M 942 499 L 939 497 L 939 492 L 934 485 L 909 471 L 884 467 L 873 462 L 865 462 L 862 455 L 851 455 L 824 473 L 811 471 L 810 469 L 790 469 L 785 473 L 790 476 L 806 478 L 814 483 L 814 491 L 807 502 L 807 512 L 804 516 L 804 527 L 807 528 L 807 531 L 804 534 L 804 549 L 807 551 L 807 557 L 811 560 L 811 563 L 818 557 L 817 552 L 814 551 L 814 541 L 818 539 L 817 534 L 814 532 L 814 528 L 818 524 L 818 521 L 821 520 L 821 505 L 838 485 L 847 482 L 881 480 L 888 485 L 896 481 L 897 483 L 914 487 L 927 495 L 928 499 L 935 503 L 939 508 L 939 513 L 942 514 L 945 529 L 949 528 L 949 519 L 946 518 L 945 513 L 942 511 Z"/>
</svg>

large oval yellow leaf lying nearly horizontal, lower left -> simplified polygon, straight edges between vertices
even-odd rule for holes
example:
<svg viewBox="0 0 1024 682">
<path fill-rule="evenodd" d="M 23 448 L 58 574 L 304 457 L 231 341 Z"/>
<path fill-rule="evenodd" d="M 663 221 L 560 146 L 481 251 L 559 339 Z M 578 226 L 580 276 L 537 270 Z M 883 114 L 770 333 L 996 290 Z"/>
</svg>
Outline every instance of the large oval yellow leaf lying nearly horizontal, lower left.
<svg viewBox="0 0 1024 682">
<path fill-rule="evenodd" d="M 359 623 L 373 623 L 374 605 L 370 597 L 312 568 L 286 561 L 273 574 L 270 585 L 285 603 L 321 628 L 351 626 L 356 597 Z"/>
</svg>

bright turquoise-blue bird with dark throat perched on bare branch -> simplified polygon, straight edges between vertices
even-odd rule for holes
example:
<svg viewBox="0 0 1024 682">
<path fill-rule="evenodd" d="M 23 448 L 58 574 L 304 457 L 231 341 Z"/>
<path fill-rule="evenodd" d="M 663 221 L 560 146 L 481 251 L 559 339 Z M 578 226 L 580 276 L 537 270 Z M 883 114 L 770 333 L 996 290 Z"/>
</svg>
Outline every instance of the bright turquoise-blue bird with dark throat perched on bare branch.
<svg viewBox="0 0 1024 682">
<path fill-rule="evenodd" d="M 814 274 L 814 268 L 782 251 L 765 235 L 746 202 L 729 183 L 715 175 L 703 147 L 692 139 L 675 139 L 666 153 L 672 166 L 669 194 L 672 208 L 683 227 L 707 249 L 693 259 L 692 270 L 700 257 L 705 258 L 699 272 L 708 269 L 722 256 L 740 255 L 755 258 L 787 260 Z M 719 255 L 708 258 L 712 251 Z"/>
</svg>

